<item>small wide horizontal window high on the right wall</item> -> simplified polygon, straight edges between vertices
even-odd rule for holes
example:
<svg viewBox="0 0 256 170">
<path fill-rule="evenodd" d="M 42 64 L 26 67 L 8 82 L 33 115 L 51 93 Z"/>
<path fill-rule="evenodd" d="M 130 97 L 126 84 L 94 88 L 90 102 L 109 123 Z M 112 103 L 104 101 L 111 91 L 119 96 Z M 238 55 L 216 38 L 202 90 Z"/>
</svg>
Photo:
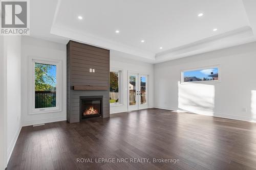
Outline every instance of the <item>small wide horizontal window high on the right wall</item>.
<svg viewBox="0 0 256 170">
<path fill-rule="evenodd" d="M 219 81 L 219 68 L 186 70 L 182 72 L 182 82 Z"/>
</svg>

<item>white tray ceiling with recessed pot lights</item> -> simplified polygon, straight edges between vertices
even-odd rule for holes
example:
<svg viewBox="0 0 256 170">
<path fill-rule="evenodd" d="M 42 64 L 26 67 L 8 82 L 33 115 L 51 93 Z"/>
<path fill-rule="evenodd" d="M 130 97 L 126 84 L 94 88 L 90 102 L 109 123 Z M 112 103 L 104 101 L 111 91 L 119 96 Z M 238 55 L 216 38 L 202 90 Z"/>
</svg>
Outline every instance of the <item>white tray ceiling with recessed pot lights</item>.
<svg viewBox="0 0 256 170">
<path fill-rule="evenodd" d="M 47 1 L 52 4 L 50 7 L 44 5 Z M 41 17 L 47 26 L 40 30 L 38 20 L 31 18 L 31 34 L 49 39 L 61 37 L 61 42 L 73 39 L 156 63 L 255 41 L 254 17 L 248 17 L 255 16 L 253 3 L 252 0 L 35 0 L 31 1 L 31 16 Z M 48 7 L 46 15 L 39 13 L 45 11 L 43 6 Z M 198 17 L 199 13 L 204 15 Z M 212 31 L 214 28 L 218 30 Z"/>
</svg>

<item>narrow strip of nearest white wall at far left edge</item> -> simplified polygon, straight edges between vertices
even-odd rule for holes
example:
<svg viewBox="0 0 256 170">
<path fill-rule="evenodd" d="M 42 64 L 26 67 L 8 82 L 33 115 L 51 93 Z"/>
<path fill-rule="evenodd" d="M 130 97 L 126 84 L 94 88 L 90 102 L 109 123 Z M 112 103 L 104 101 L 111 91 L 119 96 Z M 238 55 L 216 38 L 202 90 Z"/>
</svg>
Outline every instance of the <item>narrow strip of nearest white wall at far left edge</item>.
<svg viewBox="0 0 256 170">
<path fill-rule="evenodd" d="M 4 36 L 0 36 L 0 169 L 5 168 L 5 133 L 6 133 L 6 113 L 5 113 L 5 54 L 4 54 Z"/>
</svg>

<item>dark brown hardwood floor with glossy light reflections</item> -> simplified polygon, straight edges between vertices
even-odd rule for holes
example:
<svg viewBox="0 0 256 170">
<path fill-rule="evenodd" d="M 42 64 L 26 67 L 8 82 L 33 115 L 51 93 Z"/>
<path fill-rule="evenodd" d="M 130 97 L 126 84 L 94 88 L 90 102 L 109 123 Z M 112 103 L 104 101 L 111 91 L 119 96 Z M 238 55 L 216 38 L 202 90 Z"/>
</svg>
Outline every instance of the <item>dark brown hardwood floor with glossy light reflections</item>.
<svg viewBox="0 0 256 170">
<path fill-rule="evenodd" d="M 129 161 L 77 163 L 77 158 Z M 153 163 L 153 158 L 179 163 Z M 146 109 L 82 123 L 23 127 L 9 169 L 256 169 L 256 124 Z"/>
</svg>

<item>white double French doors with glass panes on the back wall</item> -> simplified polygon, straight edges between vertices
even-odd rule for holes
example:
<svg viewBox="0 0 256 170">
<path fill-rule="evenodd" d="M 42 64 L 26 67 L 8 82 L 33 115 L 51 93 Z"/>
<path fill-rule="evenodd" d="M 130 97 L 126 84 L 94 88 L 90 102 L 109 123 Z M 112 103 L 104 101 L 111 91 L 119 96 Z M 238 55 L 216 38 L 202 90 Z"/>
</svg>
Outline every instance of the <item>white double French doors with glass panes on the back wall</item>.
<svg viewBox="0 0 256 170">
<path fill-rule="evenodd" d="M 128 74 L 128 110 L 147 108 L 147 75 Z"/>
</svg>

